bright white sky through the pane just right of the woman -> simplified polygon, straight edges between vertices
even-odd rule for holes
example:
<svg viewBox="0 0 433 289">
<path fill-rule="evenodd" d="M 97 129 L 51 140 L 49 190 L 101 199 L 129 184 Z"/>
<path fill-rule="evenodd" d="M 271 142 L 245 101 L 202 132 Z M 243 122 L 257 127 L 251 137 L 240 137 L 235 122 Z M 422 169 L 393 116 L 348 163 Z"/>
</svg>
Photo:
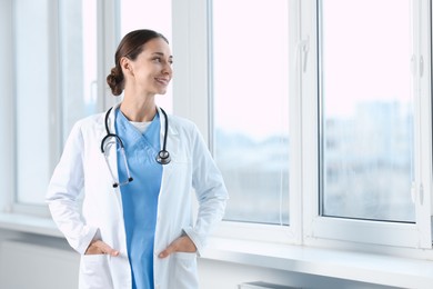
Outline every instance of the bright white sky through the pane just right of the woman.
<svg viewBox="0 0 433 289">
<path fill-rule="evenodd" d="M 258 139 L 281 133 L 289 126 L 288 1 L 214 1 L 213 21 L 216 126 Z"/>
</svg>

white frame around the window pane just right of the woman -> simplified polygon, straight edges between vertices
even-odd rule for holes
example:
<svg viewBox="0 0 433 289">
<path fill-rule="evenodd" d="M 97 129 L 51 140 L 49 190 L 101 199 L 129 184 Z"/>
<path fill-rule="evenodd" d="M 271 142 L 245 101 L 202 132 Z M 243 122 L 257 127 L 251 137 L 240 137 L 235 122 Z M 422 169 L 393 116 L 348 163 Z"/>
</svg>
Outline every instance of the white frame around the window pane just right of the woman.
<svg viewBox="0 0 433 289">
<path fill-rule="evenodd" d="M 212 149 L 212 1 L 173 0 L 173 54 L 175 56 L 175 76 L 173 78 L 174 113 L 194 121 Z M 290 51 L 293 59 L 299 46 L 299 1 L 290 1 L 290 21 L 292 22 Z M 248 48 L 246 48 L 248 49 Z M 299 151 L 300 104 L 296 83 L 296 67 L 290 68 L 293 86 L 290 94 L 293 100 L 290 108 L 291 156 L 290 161 L 290 226 L 245 223 L 223 221 L 215 232 L 218 237 L 235 239 L 272 241 L 282 243 L 301 242 L 301 161 Z M 230 192 L 229 192 L 230 193 Z"/>
</svg>

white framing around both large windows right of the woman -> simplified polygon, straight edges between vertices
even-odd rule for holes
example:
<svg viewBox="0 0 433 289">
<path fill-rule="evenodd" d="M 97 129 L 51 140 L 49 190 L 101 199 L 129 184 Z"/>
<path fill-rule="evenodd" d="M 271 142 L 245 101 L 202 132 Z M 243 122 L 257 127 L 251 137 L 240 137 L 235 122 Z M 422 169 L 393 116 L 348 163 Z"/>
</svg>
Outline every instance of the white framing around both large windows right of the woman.
<svg viewBox="0 0 433 289">
<path fill-rule="evenodd" d="M 416 0 L 415 0 L 416 2 Z M 174 78 L 174 112 L 198 123 L 212 146 L 212 72 L 211 72 L 211 1 L 173 0 L 173 53 L 177 58 Z M 416 59 L 423 57 L 423 74 L 419 80 L 416 108 L 417 171 L 416 187 L 423 187 L 423 202 L 416 198 L 416 223 L 363 221 L 321 217 L 319 215 L 319 79 L 318 79 L 318 1 L 291 0 L 291 19 L 295 46 L 291 47 L 295 66 L 290 68 L 290 220 L 289 227 L 223 221 L 215 237 L 256 241 L 348 247 L 360 245 L 406 248 L 432 247 L 432 111 L 430 89 L 430 1 L 415 3 L 421 17 L 414 27 L 417 39 Z M 295 11 L 295 12 L 294 12 Z M 292 29 L 292 28 L 291 28 Z M 421 37 L 422 36 L 422 37 Z M 427 37 L 426 37 L 427 36 Z M 416 64 L 417 69 L 420 64 Z M 419 71 L 419 70 L 417 70 Z M 421 161 L 430 160 L 430 161 Z M 230 192 L 229 192 L 230 193 Z M 420 193 L 420 190 L 416 190 Z M 230 201 L 230 200 L 229 200 Z M 381 236 L 386 238 L 381 238 Z"/>
</svg>

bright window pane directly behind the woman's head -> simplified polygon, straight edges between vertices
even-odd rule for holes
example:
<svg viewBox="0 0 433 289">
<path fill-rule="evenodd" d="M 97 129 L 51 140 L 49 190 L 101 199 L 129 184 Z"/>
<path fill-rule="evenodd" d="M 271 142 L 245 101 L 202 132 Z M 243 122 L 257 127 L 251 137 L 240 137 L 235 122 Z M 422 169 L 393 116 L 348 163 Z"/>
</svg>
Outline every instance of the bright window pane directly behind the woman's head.
<svg viewBox="0 0 433 289">
<path fill-rule="evenodd" d="M 171 0 L 121 0 L 120 11 L 121 37 L 135 29 L 155 30 L 170 41 L 171 50 L 173 50 L 171 43 Z M 175 56 L 173 57 L 173 77 L 175 78 Z M 172 91 L 172 84 L 170 83 L 167 93 L 157 97 L 157 103 L 164 108 L 167 112 L 173 111 Z"/>
</svg>

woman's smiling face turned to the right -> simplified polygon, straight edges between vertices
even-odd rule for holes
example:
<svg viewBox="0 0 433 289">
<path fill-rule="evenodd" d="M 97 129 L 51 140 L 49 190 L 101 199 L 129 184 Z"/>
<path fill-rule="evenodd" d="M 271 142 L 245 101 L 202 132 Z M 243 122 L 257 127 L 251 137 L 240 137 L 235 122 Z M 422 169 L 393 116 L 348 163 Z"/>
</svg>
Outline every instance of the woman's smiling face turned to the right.
<svg viewBox="0 0 433 289">
<path fill-rule="evenodd" d="M 138 93 L 164 94 L 172 78 L 173 57 L 169 44 L 155 38 L 144 44 L 135 60 L 122 59 L 125 76 L 125 90 Z"/>
</svg>

